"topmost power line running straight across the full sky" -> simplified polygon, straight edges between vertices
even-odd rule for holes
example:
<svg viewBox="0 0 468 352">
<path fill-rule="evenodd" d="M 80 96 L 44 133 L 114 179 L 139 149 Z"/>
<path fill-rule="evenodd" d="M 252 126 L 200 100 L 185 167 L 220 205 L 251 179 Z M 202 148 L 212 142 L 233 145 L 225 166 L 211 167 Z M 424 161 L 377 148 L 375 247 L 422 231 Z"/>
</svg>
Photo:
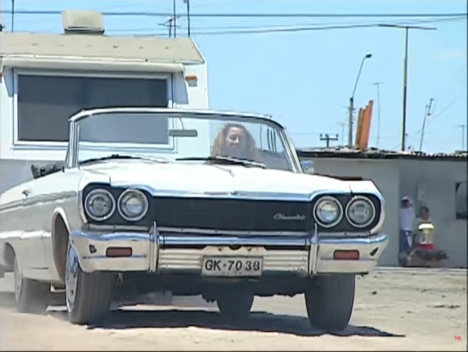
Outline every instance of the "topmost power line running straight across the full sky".
<svg viewBox="0 0 468 352">
<path fill-rule="evenodd" d="M 1 10 L 4 13 L 8 10 Z M 61 15 L 61 10 L 17 10 L 18 15 Z M 173 13 L 152 11 L 104 11 L 103 16 L 160 16 L 170 17 Z M 181 14 L 187 17 L 187 14 Z M 190 13 L 199 18 L 392 18 L 392 17 L 459 17 L 468 13 Z"/>
</svg>

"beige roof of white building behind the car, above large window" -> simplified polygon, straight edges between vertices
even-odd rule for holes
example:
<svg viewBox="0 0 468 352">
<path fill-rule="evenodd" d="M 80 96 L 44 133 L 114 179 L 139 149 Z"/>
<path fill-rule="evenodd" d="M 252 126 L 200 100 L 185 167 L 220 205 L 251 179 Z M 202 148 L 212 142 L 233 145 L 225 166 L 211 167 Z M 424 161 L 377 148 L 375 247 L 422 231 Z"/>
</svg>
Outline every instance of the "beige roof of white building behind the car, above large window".
<svg viewBox="0 0 468 352">
<path fill-rule="evenodd" d="M 202 64 L 197 45 L 187 37 L 110 37 L 54 33 L 0 33 L 0 57 L 127 59 L 141 62 Z"/>
</svg>

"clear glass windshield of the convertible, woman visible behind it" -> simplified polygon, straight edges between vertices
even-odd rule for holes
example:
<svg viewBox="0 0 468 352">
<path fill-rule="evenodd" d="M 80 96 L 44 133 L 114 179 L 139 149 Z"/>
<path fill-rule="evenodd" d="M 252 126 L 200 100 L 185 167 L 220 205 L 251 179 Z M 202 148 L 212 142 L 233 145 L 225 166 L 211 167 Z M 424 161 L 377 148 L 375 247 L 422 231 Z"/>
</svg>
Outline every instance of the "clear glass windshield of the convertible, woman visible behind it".
<svg viewBox="0 0 468 352">
<path fill-rule="evenodd" d="M 201 163 L 223 156 L 270 169 L 298 170 L 284 131 L 264 119 L 194 112 L 103 112 L 78 120 L 76 126 L 78 164 L 126 156 Z"/>
</svg>

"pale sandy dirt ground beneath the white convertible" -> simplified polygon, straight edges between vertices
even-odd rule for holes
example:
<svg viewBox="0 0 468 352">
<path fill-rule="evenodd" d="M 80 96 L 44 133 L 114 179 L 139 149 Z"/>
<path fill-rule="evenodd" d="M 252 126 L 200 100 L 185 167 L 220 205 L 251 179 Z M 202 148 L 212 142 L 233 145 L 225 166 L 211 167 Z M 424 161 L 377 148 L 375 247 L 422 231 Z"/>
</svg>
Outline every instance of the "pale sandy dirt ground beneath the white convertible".
<svg viewBox="0 0 468 352">
<path fill-rule="evenodd" d="M 243 326 L 216 307 L 127 307 L 101 327 L 66 322 L 64 307 L 18 314 L 11 276 L 0 279 L 0 350 L 467 351 L 467 271 L 378 269 L 357 281 L 351 325 L 313 331 L 303 296 L 256 298 Z M 455 336 L 460 336 L 457 339 Z"/>
</svg>

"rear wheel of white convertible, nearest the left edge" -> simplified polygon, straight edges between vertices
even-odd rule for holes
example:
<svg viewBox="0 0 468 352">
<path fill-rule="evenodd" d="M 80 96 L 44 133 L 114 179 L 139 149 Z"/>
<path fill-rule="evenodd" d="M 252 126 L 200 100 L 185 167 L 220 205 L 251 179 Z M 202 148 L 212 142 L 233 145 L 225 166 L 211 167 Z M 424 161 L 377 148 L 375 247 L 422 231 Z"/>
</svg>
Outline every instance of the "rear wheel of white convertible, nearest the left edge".
<svg viewBox="0 0 468 352">
<path fill-rule="evenodd" d="M 21 313 L 45 312 L 49 298 L 50 285 L 25 278 L 21 274 L 18 259 L 13 264 L 16 308 Z"/>
</svg>

